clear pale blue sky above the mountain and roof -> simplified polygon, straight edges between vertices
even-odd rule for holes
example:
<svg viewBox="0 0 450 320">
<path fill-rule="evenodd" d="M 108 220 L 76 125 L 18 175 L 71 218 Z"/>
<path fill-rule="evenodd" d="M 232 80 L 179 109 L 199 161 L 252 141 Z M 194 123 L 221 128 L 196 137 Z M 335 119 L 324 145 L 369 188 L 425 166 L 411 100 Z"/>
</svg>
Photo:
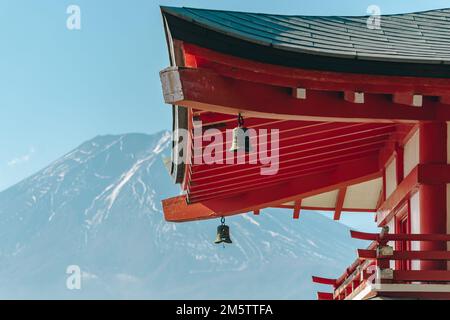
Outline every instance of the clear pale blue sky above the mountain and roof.
<svg viewBox="0 0 450 320">
<path fill-rule="evenodd" d="M 66 28 L 79 5 L 82 29 Z M 168 65 L 159 5 L 308 15 L 450 7 L 389 0 L 0 0 L 0 190 L 99 134 L 171 127 L 158 72 Z"/>
</svg>

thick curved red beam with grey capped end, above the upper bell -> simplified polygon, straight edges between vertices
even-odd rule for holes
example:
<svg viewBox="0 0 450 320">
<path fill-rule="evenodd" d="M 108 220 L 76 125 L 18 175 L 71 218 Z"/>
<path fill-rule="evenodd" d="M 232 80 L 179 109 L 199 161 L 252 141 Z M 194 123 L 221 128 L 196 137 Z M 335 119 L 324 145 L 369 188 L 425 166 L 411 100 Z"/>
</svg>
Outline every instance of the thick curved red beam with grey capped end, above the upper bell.
<svg viewBox="0 0 450 320">
<path fill-rule="evenodd" d="M 345 101 L 338 93 L 320 91 L 311 91 L 308 99 L 299 100 L 284 87 L 227 78 L 203 69 L 171 67 L 161 72 L 161 81 L 168 104 L 259 118 L 417 122 L 436 119 L 437 108 L 443 106 L 430 99 L 424 102 L 423 108 L 405 108 L 384 95 L 369 94 L 360 106 Z M 442 121 L 450 120 L 450 111 L 439 116 Z"/>
</svg>

